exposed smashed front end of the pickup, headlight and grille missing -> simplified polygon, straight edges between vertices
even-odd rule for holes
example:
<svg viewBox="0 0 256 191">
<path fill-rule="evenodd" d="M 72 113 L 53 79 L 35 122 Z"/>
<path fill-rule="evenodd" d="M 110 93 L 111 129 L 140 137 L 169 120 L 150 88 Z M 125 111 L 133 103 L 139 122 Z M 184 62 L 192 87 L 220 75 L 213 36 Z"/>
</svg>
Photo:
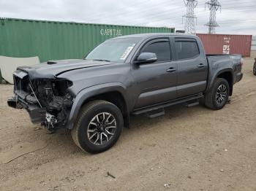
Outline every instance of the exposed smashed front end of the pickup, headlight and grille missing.
<svg viewBox="0 0 256 191">
<path fill-rule="evenodd" d="M 67 79 L 31 80 L 29 74 L 23 74 L 22 78 L 20 74 L 14 74 L 15 99 L 12 101 L 16 104 L 8 104 L 27 109 L 32 122 L 41 123 L 49 130 L 64 127 L 73 104 L 73 97 L 67 90 L 72 82 Z"/>
</svg>

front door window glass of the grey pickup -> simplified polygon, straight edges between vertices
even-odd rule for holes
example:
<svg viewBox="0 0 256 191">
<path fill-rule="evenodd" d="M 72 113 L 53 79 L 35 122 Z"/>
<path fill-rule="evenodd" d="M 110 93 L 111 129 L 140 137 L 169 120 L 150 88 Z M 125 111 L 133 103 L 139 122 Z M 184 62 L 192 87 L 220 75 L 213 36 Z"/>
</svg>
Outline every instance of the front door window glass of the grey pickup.
<svg viewBox="0 0 256 191">
<path fill-rule="evenodd" d="M 154 42 L 144 47 L 142 52 L 152 52 L 157 55 L 157 62 L 170 61 L 169 42 Z"/>
</svg>

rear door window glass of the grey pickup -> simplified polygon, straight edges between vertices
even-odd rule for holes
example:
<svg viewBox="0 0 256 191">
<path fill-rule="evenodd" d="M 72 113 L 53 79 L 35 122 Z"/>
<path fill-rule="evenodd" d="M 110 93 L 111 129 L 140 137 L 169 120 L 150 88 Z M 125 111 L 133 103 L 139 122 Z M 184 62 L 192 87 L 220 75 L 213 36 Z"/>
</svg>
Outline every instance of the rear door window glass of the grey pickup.
<svg viewBox="0 0 256 191">
<path fill-rule="evenodd" d="M 178 60 L 195 58 L 199 55 L 197 42 L 175 42 L 176 52 L 178 52 Z"/>
</svg>

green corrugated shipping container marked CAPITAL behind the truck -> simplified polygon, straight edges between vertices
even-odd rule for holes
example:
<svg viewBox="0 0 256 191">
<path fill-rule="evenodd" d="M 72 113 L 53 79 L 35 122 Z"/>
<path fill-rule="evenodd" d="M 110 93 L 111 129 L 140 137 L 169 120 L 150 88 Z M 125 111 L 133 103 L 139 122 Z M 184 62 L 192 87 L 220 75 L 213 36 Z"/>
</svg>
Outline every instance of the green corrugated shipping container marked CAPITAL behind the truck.
<svg viewBox="0 0 256 191">
<path fill-rule="evenodd" d="M 0 20 L 0 55 L 53 59 L 83 58 L 97 44 L 115 36 L 173 33 L 174 28 L 113 26 L 42 20 Z"/>
</svg>

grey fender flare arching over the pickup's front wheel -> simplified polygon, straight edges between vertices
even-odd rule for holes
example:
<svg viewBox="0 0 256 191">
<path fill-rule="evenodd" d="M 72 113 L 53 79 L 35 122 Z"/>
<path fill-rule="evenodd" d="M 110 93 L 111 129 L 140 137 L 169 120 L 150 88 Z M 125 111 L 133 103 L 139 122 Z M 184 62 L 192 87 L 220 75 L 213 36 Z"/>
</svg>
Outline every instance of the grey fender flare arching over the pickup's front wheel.
<svg viewBox="0 0 256 191">
<path fill-rule="evenodd" d="M 67 122 L 67 128 L 72 129 L 75 120 L 78 117 L 79 111 L 81 106 L 83 106 L 83 103 L 88 100 L 89 98 L 99 95 L 102 93 L 108 93 L 112 91 L 118 91 L 123 95 L 124 101 L 127 103 L 127 97 L 126 97 L 126 87 L 124 87 L 123 84 L 120 82 L 111 82 L 111 83 L 105 83 L 101 85 L 94 85 L 91 87 L 87 87 L 86 89 L 81 90 L 78 95 L 75 97 L 75 101 L 72 105 L 72 109 L 69 113 L 69 120 Z"/>
</svg>

